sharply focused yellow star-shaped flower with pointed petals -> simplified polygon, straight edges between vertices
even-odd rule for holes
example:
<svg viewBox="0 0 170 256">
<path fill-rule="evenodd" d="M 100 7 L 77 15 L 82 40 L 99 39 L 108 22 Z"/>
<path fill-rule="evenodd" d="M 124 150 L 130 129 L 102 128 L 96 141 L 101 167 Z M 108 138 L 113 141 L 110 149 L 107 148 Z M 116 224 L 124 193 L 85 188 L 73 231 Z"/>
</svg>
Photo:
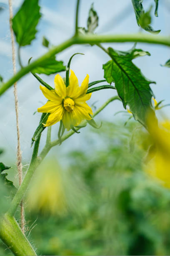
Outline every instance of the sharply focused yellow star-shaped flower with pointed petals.
<svg viewBox="0 0 170 256">
<path fill-rule="evenodd" d="M 38 112 L 50 113 L 45 126 L 53 125 L 62 120 L 65 128 L 69 131 L 70 125 L 77 126 L 83 119 L 91 119 L 92 109 L 86 103 L 92 95 L 91 93 L 86 94 L 89 75 L 87 74 L 81 87 L 79 87 L 75 73 L 70 71 L 68 87 L 65 86 L 59 74 L 54 79 L 55 90 L 48 90 L 40 85 L 43 95 L 49 100 L 44 106 L 37 109 Z"/>
</svg>

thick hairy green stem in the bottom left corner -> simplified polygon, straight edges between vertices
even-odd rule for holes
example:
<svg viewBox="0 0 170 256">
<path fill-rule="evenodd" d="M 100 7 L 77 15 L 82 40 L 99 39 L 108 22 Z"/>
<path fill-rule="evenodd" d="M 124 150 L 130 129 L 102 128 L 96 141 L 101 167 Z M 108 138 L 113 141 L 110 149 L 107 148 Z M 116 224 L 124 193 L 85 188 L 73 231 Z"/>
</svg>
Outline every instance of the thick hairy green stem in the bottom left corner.
<svg viewBox="0 0 170 256">
<path fill-rule="evenodd" d="M 15 256 L 37 255 L 15 218 L 10 215 L 5 214 L 0 218 L 0 238 Z"/>
</svg>

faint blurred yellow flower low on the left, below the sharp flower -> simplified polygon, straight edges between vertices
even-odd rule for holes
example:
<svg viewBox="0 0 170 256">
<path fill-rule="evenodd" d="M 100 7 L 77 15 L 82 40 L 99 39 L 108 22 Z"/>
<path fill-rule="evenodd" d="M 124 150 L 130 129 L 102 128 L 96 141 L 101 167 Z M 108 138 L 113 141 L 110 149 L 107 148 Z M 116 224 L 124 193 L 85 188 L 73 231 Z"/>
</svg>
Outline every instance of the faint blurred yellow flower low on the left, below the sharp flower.
<svg viewBox="0 0 170 256">
<path fill-rule="evenodd" d="M 46 160 L 36 171 L 30 184 L 28 200 L 32 210 L 52 215 L 67 212 L 65 187 L 60 166 L 54 159 Z"/>
</svg>

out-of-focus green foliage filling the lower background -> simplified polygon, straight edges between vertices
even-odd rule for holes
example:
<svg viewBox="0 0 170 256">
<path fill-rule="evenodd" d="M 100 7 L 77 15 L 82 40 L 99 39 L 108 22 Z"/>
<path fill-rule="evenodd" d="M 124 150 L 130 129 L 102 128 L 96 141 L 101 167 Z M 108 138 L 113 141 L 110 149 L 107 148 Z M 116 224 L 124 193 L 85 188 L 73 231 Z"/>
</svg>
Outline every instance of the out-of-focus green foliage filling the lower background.
<svg viewBox="0 0 170 256">
<path fill-rule="evenodd" d="M 70 147 L 67 168 L 54 151 L 28 190 L 26 234 L 37 254 L 170 255 L 170 190 L 144 171 L 147 133 L 131 120 L 88 129 L 89 146 Z M 50 195 L 52 202 L 42 200 Z M 11 255 L 4 248 L 0 255 Z"/>
</svg>

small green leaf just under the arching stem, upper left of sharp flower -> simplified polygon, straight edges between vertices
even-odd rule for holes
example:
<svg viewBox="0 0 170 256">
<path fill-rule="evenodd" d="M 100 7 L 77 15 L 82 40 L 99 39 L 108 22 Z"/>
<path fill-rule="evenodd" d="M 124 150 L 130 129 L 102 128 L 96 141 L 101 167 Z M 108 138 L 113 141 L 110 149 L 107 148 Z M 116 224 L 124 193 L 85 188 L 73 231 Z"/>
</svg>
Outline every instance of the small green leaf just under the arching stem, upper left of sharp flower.
<svg viewBox="0 0 170 256">
<path fill-rule="evenodd" d="M 63 61 L 57 61 L 55 56 L 52 56 L 51 58 L 42 61 L 38 67 L 32 70 L 32 73 L 50 75 L 61 71 L 65 71 Z"/>
</svg>

